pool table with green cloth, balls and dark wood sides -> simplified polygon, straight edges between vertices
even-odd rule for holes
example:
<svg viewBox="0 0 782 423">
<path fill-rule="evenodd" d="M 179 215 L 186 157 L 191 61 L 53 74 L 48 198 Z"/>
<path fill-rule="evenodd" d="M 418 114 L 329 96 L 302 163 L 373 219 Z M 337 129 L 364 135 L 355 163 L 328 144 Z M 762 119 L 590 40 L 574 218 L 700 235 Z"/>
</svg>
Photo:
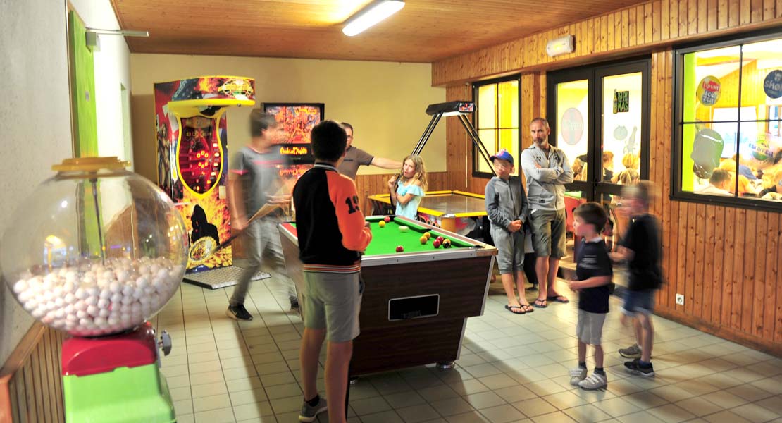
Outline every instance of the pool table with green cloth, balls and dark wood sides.
<svg viewBox="0 0 782 423">
<path fill-rule="evenodd" d="M 497 249 L 405 217 L 380 228 L 382 219 L 367 217 L 372 242 L 361 258 L 361 335 L 353 342 L 350 376 L 432 363 L 450 367 L 459 357 L 467 317 L 483 314 Z M 288 275 L 307 296 L 296 225 L 278 228 Z M 422 245 L 425 231 L 432 238 Z M 452 246 L 435 249 L 437 236 Z M 396 253 L 396 246 L 404 252 Z"/>
</svg>

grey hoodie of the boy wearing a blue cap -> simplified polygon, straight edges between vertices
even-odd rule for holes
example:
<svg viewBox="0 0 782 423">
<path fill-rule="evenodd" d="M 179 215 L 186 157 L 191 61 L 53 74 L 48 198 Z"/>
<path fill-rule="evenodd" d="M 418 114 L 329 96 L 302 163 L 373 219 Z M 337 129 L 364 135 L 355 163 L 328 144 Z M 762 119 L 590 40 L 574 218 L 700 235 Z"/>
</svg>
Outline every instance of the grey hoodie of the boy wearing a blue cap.
<svg viewBox="0 0 782 423">
<path fill-rule="evenodd" d="M 511 221 L 521 219 L 522 224 L 529 221 L 529 203 L 518 177 L 504 181 L 495 176 L 486 184 L 486 214 L 491 224 L 508 231 Z"/>
</svg>

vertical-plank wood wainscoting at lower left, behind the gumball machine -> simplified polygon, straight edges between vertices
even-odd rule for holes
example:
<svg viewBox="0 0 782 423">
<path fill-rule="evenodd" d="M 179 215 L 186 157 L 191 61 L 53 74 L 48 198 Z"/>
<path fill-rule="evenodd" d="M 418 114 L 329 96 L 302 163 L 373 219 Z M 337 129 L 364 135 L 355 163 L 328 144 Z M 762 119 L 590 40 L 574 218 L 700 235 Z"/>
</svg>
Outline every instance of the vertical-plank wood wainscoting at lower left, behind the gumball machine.
<svg viewBox="0 0 782 423">
<path fill-rule="evenodd" d="M 0 370 L 0 421 L 64 422 L 63 332 L 35 322 Z"/>
</svg>

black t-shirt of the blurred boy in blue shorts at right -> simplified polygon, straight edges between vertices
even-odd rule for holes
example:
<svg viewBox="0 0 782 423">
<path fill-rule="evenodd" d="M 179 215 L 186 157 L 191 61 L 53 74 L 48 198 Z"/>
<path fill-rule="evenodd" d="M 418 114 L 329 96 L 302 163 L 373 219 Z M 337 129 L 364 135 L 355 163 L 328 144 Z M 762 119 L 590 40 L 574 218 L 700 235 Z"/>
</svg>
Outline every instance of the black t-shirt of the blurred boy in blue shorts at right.
<svg viewBox="0 0 782 423">
<path fill-rule="evenodd" d="M 658 289 L 662 285 L 660 269 L 662 246 L 657 219 L 651 214 L 633 217 L 622 246 L 635 253 L 633 260 L 627 263 L 629 277 L 627 289 L 630 291 Z"/>
</svg>

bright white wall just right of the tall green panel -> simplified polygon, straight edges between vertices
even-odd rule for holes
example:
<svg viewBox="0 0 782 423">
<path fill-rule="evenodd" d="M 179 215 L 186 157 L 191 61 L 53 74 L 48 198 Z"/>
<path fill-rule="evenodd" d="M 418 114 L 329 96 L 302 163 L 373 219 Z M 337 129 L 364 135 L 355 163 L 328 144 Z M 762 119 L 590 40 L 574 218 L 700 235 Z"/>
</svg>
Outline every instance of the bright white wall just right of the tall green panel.
<svg viewBox="0 0 782 423">
<path fill-rule="evenodd" d="M 70 0 L 70 4 L 84 21 L 84 27 L 120 29 L 109 0 Z M 98 105 L 98 154 L 117 156 L 132 163 L 133 149 L 126 148 L 124 144 L 121 91 L 122 86 L 131 91 L 131 52 L 124 37 L 99 35 L 99 38 L 100 50 L 93 53 L 95 104 Z"/>
</svg>

